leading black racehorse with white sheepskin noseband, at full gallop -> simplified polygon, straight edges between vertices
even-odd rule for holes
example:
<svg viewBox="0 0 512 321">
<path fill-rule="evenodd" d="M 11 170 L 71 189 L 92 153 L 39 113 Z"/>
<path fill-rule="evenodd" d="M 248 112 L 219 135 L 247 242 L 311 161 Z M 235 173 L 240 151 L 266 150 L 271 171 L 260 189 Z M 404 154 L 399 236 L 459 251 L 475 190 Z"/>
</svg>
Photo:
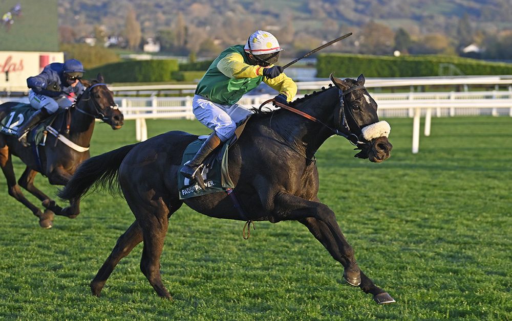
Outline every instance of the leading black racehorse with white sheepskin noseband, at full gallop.
<svg viewBox="0 0 512 321">
<path fill-rule="evenodd" d="M 158 295 L 170 298 L 160 276 L 160 255 L 168 219 L 184 202 L 217 218 L 298 220 L 344 266 L 348 283 L 372 293 L 377 303 L 394 302 L 359 269 L 334 212 L 317 197 L 318 171 L 313 159 L 328 137 L 346 136 L 361 149 L 356 156 L 372 162 L 388 158 L 392 148 L 387 138 L 389 124 L 379 122 L 377 104 L 364 87 L 364 77 L 340 80 L 331 75 L 331 80 L 335 86 L 296 100 L 292 104 L 295 113 L 279 109 L 251 117 L 230 147 L 229 174 L 243 211 L 233 206 L 226 193 L 179 199 L 177 172 L 185 147 L 196 135 L 170 131 L 84 162 L 59 196 L 77 199 L 98 183 L 114 190 L 120 187 L 135 215 L 135 222 L 119 237 L 91 282 L 92 293 L 100 295 L 121 258 L 143 241 L 142 273 Z"/>
</svg>

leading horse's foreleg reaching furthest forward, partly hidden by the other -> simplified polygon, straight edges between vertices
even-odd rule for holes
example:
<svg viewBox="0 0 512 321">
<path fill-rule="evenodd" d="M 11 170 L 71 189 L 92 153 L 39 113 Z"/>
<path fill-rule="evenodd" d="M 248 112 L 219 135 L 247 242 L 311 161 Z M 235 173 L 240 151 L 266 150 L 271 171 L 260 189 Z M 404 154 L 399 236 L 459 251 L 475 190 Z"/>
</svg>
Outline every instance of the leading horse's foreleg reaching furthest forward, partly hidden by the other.
<svg viewBox="0 0 512 321">
<path fill-rule="evenodd" d="M 334 240 L 334 237 L 332 236 L 329 228 L 327 225 L 316 219 L 316 218 L 306 218 L 303 220 L 300 220 L 301 223 L 306 225 L 311 232 L 311 234 L 314 235 L 314 237 L 324 245 L 324 247 L 329 251 L 331 256 L 338 262 L 343 264 L 343 257 L 339 252 L 339 247 L 336 241 Z M 379 303 L 392 303 L 395 302 L 393 298 L 386 293 L 384 290 L 376 286 L 373 281 L 368 278 L 362 271 L 360 271 L 360 284 L 359 288 L 361 288 L 362 291 L 365 293 L 371 293 L 373 294 L 373 299 Z"/>
</svg>

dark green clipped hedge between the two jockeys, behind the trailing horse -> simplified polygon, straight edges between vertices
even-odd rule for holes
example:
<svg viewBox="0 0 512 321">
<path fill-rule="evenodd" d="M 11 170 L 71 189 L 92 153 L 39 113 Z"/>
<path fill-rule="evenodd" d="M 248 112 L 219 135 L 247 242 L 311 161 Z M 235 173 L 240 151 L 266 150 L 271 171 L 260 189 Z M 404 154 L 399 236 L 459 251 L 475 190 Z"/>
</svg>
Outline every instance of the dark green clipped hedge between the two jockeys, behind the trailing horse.
<svg viewBox="0 0 512 321">
<path fill-rule="evenodd" d="M 96 78 L 101 73 L 107 82 L 172 81 L 178 70 L 177 60 L 133 60 L 106 64 L 87 71 L 86 78 Z"/>
</svg>

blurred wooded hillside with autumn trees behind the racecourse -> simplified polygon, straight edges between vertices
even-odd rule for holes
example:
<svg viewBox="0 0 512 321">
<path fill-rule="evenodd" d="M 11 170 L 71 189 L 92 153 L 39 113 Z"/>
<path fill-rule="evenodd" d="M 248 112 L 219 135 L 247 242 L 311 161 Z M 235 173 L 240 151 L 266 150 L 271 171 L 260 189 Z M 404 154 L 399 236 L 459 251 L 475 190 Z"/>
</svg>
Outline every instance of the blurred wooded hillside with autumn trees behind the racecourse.
<svg viewBox="0 0 512 321">
<path fill-rule="evenodd" d="M 145 39 L 151 37 L 160 43 L 165 53 L 211 57 L 228 45 L 244 43 L 253 31 L 264 29 L 278 37 L 286 48 L 285 55 L 297 56 L 340 34 L 353 32 L 353 36 L 325 52 L 392 55 L 398 50 L 401 54 L 512 59 L 512 22 L 510 15 L 507 16 L 512 6 L 500 9 L 505 0 L 484 0 L 480 7 L 461 0 L 457 2 L 459 5 L 472 3 L 461 16 L 435 14 L 432 8 L 421 8 L 426 5 L 420 6 L 422 2 L 414 0 L 407 3 L 394 0 L 297 1 L 305 6 L 302 11 L 280 10 L 280 6 L 286 9 L 287 3 L 279 0 L 273 8 L 265 8 L 259 2 L 232 0 L 192 4 L 169 0 L 155 1 L 153 5 L 142 0 L 101 5 L 102 1 L 95 1 L 99 7 L 109 9 L 103 12 L 102 19 L 76 15 L 75 26 L 68 25 L 68 19 L 62 19 L 61 42 L 79 42 L 89 35 L 99 38 L 97 45 L 102 45 L 101 39 L 115 35 L 122 39 L 116 45 L 140 51 Z M 174 7 L 168 8 L 171 4 Z M 75 0 L 70 5 L 80 8 L 90 6 L 90 1 Z M 116 10 L 115 13 L 111 13 L 112 10 Z M 420 14 L 418 10 L 423 11 Z M 486 21 L 490 19 L 503 21 L 502 27 L 489 25 Z M 401 20 L 404 22 L 396 23 Z M 481 51 L 464 53 L 463 48 L 469 44 L 476 44 Z"/>
</svg>

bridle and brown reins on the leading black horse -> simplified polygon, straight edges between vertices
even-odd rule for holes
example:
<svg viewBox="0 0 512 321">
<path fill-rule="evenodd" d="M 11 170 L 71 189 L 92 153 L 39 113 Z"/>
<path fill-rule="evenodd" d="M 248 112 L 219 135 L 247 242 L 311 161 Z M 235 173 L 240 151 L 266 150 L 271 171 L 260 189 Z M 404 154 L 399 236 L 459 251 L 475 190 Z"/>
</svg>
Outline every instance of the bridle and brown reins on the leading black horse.
<svg viewBox="0 0 512 321">
<path fill-rule="evenodd" d="M 350 129 L 350 126 L 349 126 L 348 121 L 347 121 L 347 112 L 345 111 L 345 95 L 347 95 L 349 93 L 352 93 L 352 91 L 358 90 L 358 89 L 366 89 L 366 87 L 365 86 L 356 85 L 356 86 L 348 88 L 345 91 L 343 91 L 342 89 L 338 88 L 339 105 L 338 105 L 338 112 L 337 112 L 337 114 L 338 114 L 338 121 L 337 121 L 336 128 L 332 128 L 331 126 L 325 124 L 321 120 L 311 116 L 310 114 L 308 114 L 308 113 L 306 113 L 304 111 L 301 111 L 301 110 L 298 110 L 298 109 L 293 108 L 291 106 L 282 104 L 280 102 L 275 101 L 274 99 L 269 99 L 269 100 L 263 102 L 260 105 L 260 108 L 258 108 L 258 110 L 261 111 L 261 108 L 264 105 L 266 105 L 269 102 L 273 102 L 275 104 L 275 106 L 281 107 L 281 108 L 289 110 L 291 112 L 294 112 L 294 113 L 296 113 L 296 114 L 298 114 L 298 115 L 300 115 L 300 116 L 302 116 L 304 118 L 307 118 L 307 119 L 309 119 L 309 120 L 311 120 L 311 121 L 313 121 L 315 123 L 322 124 L 324 127 L 330 129 L 334 134 L 336 134 L 338 136 L 345 137 L 352 145 L 357 146 L 358 144 L 365 144 L 365 143 L 359 141 L 359 135 L 361 133 L 361 128 L 360 128 L 359 125 L 357 125 L 357 122 L 355 121 L 354 115 L 352 114 L 352 111 L 349 108 L 348 114 L 352 118 L 352 122 L 357 126 L 359 134 L 353 133 L 352 130 Z"/>
</svg>

